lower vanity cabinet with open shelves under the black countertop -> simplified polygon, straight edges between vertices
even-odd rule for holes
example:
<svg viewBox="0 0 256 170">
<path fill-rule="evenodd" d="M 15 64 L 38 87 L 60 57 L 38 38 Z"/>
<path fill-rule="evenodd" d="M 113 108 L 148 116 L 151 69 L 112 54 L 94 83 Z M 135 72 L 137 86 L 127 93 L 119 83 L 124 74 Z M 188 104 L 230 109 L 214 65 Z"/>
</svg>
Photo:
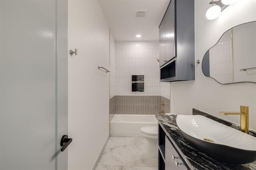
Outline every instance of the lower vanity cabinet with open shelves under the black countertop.
<svg viewBox="0 0 256 170">
<path fill-rule="evenodd" d="M 158 170 L 187 170 L 184 159 L 158 124 Z"/>
</svg>

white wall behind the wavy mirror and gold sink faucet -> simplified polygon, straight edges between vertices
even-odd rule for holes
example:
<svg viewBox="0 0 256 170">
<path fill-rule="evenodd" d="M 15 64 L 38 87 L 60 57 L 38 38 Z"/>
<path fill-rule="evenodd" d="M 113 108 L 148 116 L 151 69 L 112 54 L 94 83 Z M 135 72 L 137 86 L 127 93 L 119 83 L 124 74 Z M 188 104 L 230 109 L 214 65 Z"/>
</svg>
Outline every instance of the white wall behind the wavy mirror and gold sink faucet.
<svg viewBox="0 0 256 170">
<path fill-rule="evenodd" d="M 256 1 L 238 0 L 228 6 L 215 20 L 207 20 L 209 1 L 195 0 L 196 60 L 230 28 L 256 20 Z M 204 76 L 202 63 L 196 64 L 196 80 L 171 83 L 171 112 L 191 115 L 192 108 L 211 113 L 240 125 L 238 115 L 220 115 L 220 111 L 240 111 L 240 105 L 249 106 L 250 129 L 256 130 L 256 84 L 235 83 L 221 85 Z"/>
</svg>

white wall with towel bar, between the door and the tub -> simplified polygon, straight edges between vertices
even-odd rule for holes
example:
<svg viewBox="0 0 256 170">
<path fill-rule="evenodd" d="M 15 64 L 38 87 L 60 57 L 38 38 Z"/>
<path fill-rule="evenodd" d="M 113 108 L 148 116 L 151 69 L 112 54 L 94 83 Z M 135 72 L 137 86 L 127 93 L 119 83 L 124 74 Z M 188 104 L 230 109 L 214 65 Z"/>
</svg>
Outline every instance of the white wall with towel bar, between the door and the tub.
<svg viewBox="0 0 256 170">
<path fill-rule="evenodd" d="M 108 138 L 109 27 L 97 0 L 68 1 L 68 169 L 91 169 Z"/>
</svg>

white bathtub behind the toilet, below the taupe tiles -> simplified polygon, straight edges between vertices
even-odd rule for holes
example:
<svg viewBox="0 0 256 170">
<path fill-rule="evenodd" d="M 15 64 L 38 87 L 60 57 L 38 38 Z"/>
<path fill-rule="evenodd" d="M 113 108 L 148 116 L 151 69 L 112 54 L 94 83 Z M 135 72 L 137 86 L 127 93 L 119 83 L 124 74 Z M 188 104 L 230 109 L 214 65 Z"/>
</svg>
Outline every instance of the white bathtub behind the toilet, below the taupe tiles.
<svg viewBox="0 0 256 170">
<path fill-rule="evenodd" d="M 141 136 L 140 128 L 157 126 L 155 115 L 114 115 L 110 121 L 111 136 Z"/>
</svg>

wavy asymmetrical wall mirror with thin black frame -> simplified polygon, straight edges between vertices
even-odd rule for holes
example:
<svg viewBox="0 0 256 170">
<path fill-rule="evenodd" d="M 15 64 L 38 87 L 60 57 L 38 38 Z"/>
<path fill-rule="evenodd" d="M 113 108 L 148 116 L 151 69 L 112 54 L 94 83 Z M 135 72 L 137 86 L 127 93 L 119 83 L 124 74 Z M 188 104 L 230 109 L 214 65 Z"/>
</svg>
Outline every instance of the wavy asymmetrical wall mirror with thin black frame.
<svg viewBox="0 0 256 170">
<path fill-rule="evenodd" d="M 204 55 L 202 71 L 218 83 L 256 83 L 256 21 L 226 31 Z"/>
</svg>

